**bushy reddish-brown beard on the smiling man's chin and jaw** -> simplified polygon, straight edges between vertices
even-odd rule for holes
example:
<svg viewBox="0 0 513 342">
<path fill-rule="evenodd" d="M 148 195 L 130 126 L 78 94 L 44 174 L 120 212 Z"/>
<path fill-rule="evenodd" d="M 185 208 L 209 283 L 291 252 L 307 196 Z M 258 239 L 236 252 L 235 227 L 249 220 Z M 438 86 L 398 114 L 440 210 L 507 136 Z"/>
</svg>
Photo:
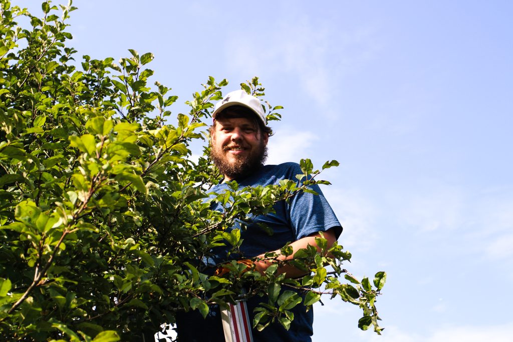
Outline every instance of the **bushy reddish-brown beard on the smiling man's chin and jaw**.
<svg viewBox="0 0 513 342">
<path fill-rule="evenodd" d="M 261 140 L 260 146 L 246 156 L 240 156 L 230 163 L 226 157 L 226 150 L 216 149 L 212 144 L 210 148 L 210 157 L 214 165 L 225 176 L 233 179 L 238 177 L 247 176 L 255 170 L 261 168 L 267 159 L 267 146 Z"/>
</svg>

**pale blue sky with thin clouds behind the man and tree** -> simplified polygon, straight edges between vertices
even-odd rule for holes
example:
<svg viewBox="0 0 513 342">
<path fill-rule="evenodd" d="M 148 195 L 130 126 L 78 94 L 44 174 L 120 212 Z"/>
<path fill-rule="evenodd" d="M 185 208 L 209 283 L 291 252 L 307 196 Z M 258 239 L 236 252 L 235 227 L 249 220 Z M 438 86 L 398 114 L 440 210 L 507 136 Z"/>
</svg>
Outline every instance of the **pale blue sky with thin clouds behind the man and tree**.
<svg viewBox="0 0 513 342">
<path fill-rule="evenodd" d="M 325 300 L 314 341 L 510 340 L 513 3 L 254 4 L 76 1 L 71 44 L 77 57 L 153 52 L 175 114 L 210 75 L 226 92 L 259 76 L 285 107 L 268 162 L 341 163 L 323 191 L 347 268 L 388 273 L 386 329 L 362 332 L 357 308 Z"/>
</svg>

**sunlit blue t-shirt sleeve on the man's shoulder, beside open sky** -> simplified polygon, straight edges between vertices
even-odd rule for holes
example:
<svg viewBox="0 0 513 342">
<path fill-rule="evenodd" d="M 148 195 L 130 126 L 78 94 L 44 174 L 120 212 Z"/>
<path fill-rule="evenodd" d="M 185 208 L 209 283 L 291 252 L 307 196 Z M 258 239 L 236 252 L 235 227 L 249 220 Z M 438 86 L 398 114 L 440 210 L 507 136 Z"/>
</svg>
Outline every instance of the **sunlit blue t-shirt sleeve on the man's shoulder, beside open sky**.
<svg viewBox="0 0 513 342">
<path fill-rule="evenodd" d="M 295 174 L 299 173 L 301 173 L 301 169 Z M 312 185 L 309 188 L 317 192 L 318 195 L 300 192 L 292 197 L 288 204 L 290 226 L 294 231 L 295 237 L 300 239 L 334 228 L 335 235 L 338 238 L 342 233 L 342 226 L 333 209 L 331 209 L 318 185 Z"/>
</svg>

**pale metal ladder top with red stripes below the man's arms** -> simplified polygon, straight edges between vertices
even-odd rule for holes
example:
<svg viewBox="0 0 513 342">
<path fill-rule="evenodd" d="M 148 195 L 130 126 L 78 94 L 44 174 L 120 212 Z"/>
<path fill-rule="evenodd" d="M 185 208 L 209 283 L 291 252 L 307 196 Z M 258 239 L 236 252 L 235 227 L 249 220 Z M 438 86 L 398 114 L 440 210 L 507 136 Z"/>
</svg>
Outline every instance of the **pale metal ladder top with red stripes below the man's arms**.
<svg viewBox="0 0 513 342">
<path fill-rule="evenodd" d="M 222 309 L 221 319 L 226 342 L 253 342 L 245 301 L 239 301 L 236 305 L 229 304 L 228 309 Z"/>
</svg>

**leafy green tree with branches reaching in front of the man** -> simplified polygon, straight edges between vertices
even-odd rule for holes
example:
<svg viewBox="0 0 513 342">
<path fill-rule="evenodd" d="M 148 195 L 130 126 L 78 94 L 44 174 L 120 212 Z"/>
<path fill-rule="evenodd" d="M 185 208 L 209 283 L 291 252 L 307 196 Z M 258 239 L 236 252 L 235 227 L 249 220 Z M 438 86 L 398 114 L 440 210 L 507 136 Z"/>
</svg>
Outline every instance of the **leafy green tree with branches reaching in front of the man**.
<svg viewBox="0 0 513 342">
<path fill-rule="evenodd" d="M 372 283 L 342 268 L 351 254 L 339 245 L 307 248 L 291 261 L 276 261 L 265 275 L 233 262 L 225 277 L 208 276 L 200 262 L 215 246 L 234 251 L 242 240 L 235 219 L 266 214 L 278 200 L 311 184 L 309 159 L 303 182 L 239 189 L 209 198 L 219 171 L 208 146 L 198 162 L 189 145 L 205 139 L 212 102 L 222 98 L 223 80 L 209 77 L 187 102 L 189 113 L 170 120 L 176 96 L 154 82 L 146 68 L 153 55 L 92 59 L 78 70 L 66 19 L 75 10 L 44 2 L 43 18 L 2 4 L 0 24 L 0 332 L 8 340 L 106 342 L 140 340 L 174 323 L 176 312 L 226 305 L 268 293 L 254 319 L 264 329 L 278 320 L 288 328 L 290 309 L 311 306 L 322 295 L 363 309 L 361 329 L 377 324 L 374 303 L 385 283 Z M 28 19 L 28 28 L 18 19 Z M 254 77 L 243 89 L 257 96 Z M 264 104 L 268 120 L 280 106 Z M 173 124 L 169 124 L 173 121 Z M 323 169 L 337 166 L 327 162 Z M 216 201 L 225 213 L 210 210 Z M 290 254 L 285 246 L 283 254 Z M 275 255 L 267 255 L 272 258 Z M 277 274 L 281 263 L 310 270 L 299 279 Z M 326 268 L 329 266 L 329 270 Z M 344 277 L 341 276 L 345 274 Z M 347 280 L 348 282 L 341 281 Z M 374 285 L 374 287 L 372 287 Z M 282 288 L 303 288 L 304 299 Z"/>
</svg>

